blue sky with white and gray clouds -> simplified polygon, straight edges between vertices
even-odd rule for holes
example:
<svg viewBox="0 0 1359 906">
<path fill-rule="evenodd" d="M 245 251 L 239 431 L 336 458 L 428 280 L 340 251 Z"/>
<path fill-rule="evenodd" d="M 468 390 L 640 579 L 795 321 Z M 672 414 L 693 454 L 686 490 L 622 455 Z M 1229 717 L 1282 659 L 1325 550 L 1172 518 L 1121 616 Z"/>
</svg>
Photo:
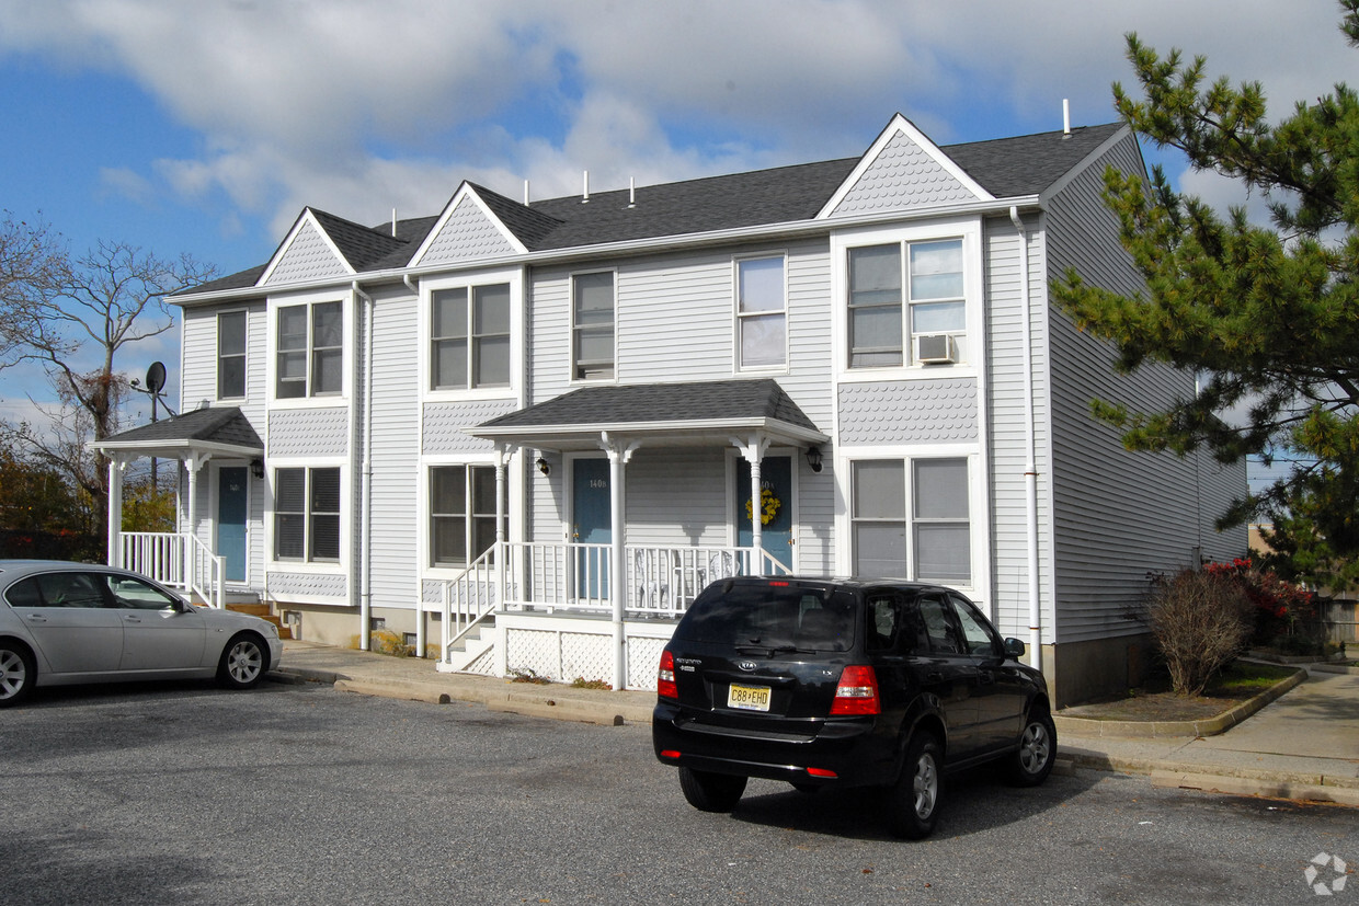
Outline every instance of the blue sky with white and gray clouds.
<svg viewBox="0 0 1359 906">
<path fill-rule="evenodd" d="M 1260 80 L 1271 113 L 1356 79 L 1333 0 L 0 0 L 0 208 L 73 251 L 219 274 L 303 206 L 438 213 L 863 153 L 896 113 L 938 144 L 1112 122 L 1124 35 Z M 1243 201 L 1144 148 L 1177 185 Z M 175 331 L 117 367 L 170 367 Z M 41 375 L 0 372 L 0 417 Z M 173 397 L 171 397 L 173 398 Z"/>
</svg>

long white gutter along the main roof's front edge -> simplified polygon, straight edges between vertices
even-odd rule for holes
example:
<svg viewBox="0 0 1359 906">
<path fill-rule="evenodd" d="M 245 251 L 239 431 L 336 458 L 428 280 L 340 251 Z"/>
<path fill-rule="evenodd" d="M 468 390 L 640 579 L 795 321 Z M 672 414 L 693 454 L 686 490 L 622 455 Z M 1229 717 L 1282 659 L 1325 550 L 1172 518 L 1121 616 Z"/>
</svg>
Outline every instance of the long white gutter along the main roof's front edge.
<svg viewBox="0 0 1359 906">
<path fill-rule="evenodd" d="M 856 230 L 875 227 L 887 223 L 902 223 L 915 220 L 934 220 L 943 217 L 973 217 L 998 215 L 1006 216 L 1010 211 L 1037 211 L 1044 208 L 1044 201 L 1037 194 L 1015 196 L 1012 198 L 987 198 L 969 201 L 965 204 L 934 205 L 917 208 L 909 212 L 889 211 L 848 217 L 792 220 L 779 224 L 760 224 L 753 227 L 737 227 L 731 230 L 713 230 L 711 232 L 684 234 L 678 236 L 651 236 L 646 239 L 628 239 L 622 242 L 606 242 L 594 246 L 571 246 L 567 249 L 545 249 L 526 254 L 512 253 L 495 255 L 491 258 L 477 258 L 465 262 L 440 262 L 420 268 L 391 268 L 387 270 L 372 270 L 363 274 L 363 281 L 372 285 L 375 283 L 402 281 L 410 285 L 410 278 L 419 280 L 425 274 L 448 273 L 453 270 L 480 270 L 489 268 L 506 268 L 518 265 L 550 265 L 564 261 L 580 261 L 586 258 L 616 258 L 625 255 L 650 254 L 655 251 L 675 251 L 682 249 L 733 244 L 750 239 L 787 239 L 796 236 L 815 236 L 834 232 L 837 230 Z M 302 292 L 310 289 L 341 288 L 353 284 L 353 274 L 336 274 L 323 280 L 308 280 L 303 283 L 253 285 L 238 289 L 223 289 L 219 292 L 194 293 L 186 292 L 166 299 L 174 306 L 192 306 L 209 302 L 230 302 L 236 299 L 258 299 L 261 295 Z"/>
</svg>

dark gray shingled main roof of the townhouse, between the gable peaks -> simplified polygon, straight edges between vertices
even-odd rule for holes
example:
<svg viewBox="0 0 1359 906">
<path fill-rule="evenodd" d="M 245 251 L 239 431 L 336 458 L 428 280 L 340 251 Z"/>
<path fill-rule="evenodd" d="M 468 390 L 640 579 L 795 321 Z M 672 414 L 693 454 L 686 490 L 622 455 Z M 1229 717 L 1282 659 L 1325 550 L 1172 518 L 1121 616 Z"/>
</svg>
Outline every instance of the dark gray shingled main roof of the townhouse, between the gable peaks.
<svg viewBox="0 0 1359 906">
<path fill-rule="evenodd" d="M 1113 122 L 1012 139 L 945 145 L 978 185 L 998 198 L 1040 194 L 1116 134 Z M 824 160 L 771 170 L 639 186 L 635 204 L 626 189 L 546 198 L 523 205 L 467 183 L 495 216 L 530 251 L 576 249 L 658 236 L 810 220 L 830 200 L 862 158 Z M 410 264 L 439 217 L 363 227 L 311 209 L 349 264 L 359 272 L 400 269 Z M 192 292 L 239 289 L 258 283 L 265 265 L 222 277 Z"/>
</svg>

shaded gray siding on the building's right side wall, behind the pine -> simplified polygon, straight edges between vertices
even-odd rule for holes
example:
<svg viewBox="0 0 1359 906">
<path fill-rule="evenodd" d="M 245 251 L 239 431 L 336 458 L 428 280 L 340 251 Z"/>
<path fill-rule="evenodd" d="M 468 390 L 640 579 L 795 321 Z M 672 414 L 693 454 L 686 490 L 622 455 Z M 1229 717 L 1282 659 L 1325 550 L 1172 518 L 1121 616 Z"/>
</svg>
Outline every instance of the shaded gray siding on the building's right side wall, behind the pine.
<svg viewBox="0 0 1359 906">
<path fill-rule="evenodd" d="M 1135 293 L 1142 289 L 1140 276 L 1118 244 L 1117 221 L 1101 198 L 1106 164 L 1140 171 L 1131 137 L 1052 200 L 1048 276 L 1060 278 L 1074 266 L 1095 285 Z M 1154 412 L 1190 395 L 1193 375 L 1155 364 L 1118 375 L 1112 345 L 1076 330 L 1057 310 L 1049 311 L 1048 323 L 1057 641 L 1131 634 L 1140 628 L 1125 614 L 1146 591 L 1147 573 L 1192 561 L 1195 549 L 1208 541 L 1204 524 L 1214 515 L 1207 509 L 1218 500 L 1200 494 L 1192 459 L 1124 450 L 1120 432 L 1093 418 L 1089 405 L 1098 397 Z M 1200 512 L 1203 504 L 1207 508 Z M 1241 538 L 1245 547 L 1243 528 Z"/>
</svg>

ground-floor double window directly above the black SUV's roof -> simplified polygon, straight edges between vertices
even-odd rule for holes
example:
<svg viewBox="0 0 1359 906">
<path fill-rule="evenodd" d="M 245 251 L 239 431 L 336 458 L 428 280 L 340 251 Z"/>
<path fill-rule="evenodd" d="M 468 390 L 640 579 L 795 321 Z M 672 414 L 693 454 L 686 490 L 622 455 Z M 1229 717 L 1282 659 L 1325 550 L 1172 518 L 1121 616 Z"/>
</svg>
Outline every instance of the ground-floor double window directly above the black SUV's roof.
<svg viewBox="0 0 1359 906">
<path fill-rule="evenodd" d="M 966 459 L 864 459 L 853 463 L 851 481 L 856 576 L 972 580 Z"/>
</svg>

